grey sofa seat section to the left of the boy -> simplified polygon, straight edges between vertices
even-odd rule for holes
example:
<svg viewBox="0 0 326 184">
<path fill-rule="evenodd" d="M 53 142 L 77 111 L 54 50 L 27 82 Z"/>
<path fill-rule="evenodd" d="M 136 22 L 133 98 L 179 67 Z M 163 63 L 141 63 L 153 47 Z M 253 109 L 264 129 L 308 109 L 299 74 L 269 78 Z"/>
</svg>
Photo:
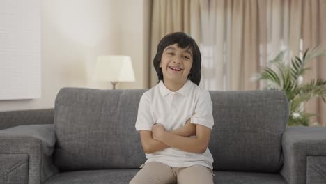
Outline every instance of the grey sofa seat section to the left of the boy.
<svg viewBox="0 0 326 184">
<path fill-rule="evenodd" d="M 56 174 L 45 184 L 103 184 L 129 183 L 139 169 L 107 169 L 69 171 Z"/>
</svg>

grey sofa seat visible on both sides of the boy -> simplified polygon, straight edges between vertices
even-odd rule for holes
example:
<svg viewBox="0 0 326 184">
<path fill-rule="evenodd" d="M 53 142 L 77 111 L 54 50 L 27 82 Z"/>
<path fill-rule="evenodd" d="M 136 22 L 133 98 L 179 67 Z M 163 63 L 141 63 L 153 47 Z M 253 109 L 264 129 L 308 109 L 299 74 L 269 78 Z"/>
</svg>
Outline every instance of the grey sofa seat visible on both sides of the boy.
<svg viewBox="0 0 326 184">
<path fill-rule="evenodd" d="M 129 183 L 139 169 L 107 169 L 70 171 L 56 174 L 45 184 Z M 214 183 L 219 184 L 286 184 L 280 174 L 214 171 Z"/>
</svg>

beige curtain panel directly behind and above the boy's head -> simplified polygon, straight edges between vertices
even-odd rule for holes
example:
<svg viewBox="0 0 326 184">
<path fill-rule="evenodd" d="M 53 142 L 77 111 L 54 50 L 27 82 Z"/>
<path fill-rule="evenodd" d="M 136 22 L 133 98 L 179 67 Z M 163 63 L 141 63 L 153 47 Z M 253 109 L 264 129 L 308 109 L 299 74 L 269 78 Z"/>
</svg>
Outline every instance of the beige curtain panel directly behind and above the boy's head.
<svg viewBox="0 0 326 184">
<path fill-rule="evenodd" d="M 183 31 L 197 43 L 201 38 L 199 0 L 153 0 L 152 29 L 150 33 L 150 87 L 157 84 L 153 59 L 157 44 L 168 33 Z"/>
</svg>

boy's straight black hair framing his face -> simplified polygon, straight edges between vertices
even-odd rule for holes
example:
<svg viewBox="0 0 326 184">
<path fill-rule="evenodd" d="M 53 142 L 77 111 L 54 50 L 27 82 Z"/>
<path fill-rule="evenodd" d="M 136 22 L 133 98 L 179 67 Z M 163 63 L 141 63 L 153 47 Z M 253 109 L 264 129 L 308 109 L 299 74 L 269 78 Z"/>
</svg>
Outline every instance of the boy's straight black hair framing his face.
<svg viewBox="0 0 326 184">
<path fill-rule="evenodd" d="M 169 45 L 176 43 L 178 44 L 178 47 L 182 49 L 192 49 L 192 68 L 190 69 L 188 79 L 198 86 L 199 82 L 201 82 L 201 52 L 194 38 L 183 32 L 170 33 L 164 36 L 157 45 L 157 52 L 153 64 L 159 81 L 163 80 L 163 72 L 162 68 L 160 68 L 160 63 L 164 49 Z"/>
</svg>

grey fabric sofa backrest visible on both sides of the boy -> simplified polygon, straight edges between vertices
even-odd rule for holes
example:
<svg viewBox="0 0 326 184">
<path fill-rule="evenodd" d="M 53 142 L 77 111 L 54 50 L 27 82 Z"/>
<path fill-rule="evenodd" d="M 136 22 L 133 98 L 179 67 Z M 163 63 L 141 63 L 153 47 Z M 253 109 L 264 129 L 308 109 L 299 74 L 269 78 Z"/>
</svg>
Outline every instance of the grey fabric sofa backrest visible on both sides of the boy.
<svg viewBox="0 0 326 184">
<path fill-rule="evenodd" d="M 56 96 L 54 163 L 63 171 L 139 168 L 146 161 L 134 128 L 146 89 L 63 88 Z M 210 91 L 215 170 L 279 171 L 288 103 L 279 91 Z"/>
</svg>

